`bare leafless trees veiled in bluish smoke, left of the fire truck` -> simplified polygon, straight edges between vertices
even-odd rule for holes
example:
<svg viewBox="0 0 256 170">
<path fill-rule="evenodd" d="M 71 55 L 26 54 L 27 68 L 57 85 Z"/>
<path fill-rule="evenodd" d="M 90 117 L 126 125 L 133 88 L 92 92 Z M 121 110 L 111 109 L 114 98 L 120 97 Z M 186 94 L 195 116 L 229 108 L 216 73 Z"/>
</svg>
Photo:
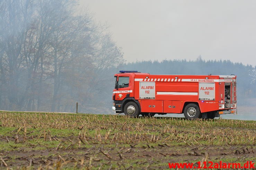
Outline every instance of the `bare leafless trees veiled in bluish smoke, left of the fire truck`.
<svg viewBox="0 0 256 170">
<path fill-rule="evenodd" d="M 108 80 L 98 70 L 122 63 L 123 54 L 107 27 L 87 11 L 77 14 L 76 6 L 76 0 L 0 1 L 1 108 L 71 111 L 75 101 L 93 108 Z"/>
</svg>

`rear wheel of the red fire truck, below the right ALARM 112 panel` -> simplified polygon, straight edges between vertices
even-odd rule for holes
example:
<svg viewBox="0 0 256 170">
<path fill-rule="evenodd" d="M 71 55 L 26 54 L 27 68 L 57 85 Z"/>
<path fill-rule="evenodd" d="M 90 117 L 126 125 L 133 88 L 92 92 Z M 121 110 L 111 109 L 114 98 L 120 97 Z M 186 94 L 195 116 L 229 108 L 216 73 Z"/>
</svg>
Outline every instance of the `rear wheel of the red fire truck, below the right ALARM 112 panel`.
<svg viewBox="0 0 256 170">
<path fill-rule="evenodd" d="M 187 104 L 186 107 L 184 108 L 183 113 L 187 120 L 193 120 L 202 117 L 200 108 L 195 103 Z"/>
</svg>

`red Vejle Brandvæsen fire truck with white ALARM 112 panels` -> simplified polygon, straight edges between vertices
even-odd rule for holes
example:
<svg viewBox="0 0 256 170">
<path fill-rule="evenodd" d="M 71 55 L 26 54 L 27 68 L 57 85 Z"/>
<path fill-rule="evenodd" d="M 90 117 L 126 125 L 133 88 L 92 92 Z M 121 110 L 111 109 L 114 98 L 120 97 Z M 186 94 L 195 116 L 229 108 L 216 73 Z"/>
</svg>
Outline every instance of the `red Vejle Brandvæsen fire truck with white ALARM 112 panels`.
<svg viewBox="0 0 256 170">
<path fill-rule="evenodd" d="M 235 75 L 115 74 L 113 110 L 127 116 L 183 113 L 188 120 L 236 112 Z"/>
</svg>

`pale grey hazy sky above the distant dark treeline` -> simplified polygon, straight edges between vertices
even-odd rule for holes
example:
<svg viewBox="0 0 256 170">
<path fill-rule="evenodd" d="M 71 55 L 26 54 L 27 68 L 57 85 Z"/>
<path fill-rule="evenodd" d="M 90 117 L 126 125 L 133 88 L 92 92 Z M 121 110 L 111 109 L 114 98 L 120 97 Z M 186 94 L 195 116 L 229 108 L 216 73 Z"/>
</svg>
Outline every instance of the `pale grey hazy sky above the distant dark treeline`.
<svg viewBox="0 0 256 170">
<path fill-rule="evenodd" d="M 109 24 L 129 61 L 231 60 L 256 65 L 255 0 L 80 0 Z"/>
</svg>

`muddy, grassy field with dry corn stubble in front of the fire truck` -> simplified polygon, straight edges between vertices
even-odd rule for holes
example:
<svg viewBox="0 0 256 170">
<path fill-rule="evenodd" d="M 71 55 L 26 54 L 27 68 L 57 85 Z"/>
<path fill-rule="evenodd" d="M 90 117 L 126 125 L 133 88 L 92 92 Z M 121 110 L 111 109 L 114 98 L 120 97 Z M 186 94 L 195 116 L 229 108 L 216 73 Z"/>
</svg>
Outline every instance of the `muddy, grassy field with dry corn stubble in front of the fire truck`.
<svg viewBox="0 0 256 170">
<path fill-rule="evenodd" d="M 201 161 L 206 152 L 208 160 L 244 163 L 256 159 L 255 127 L 224 119 L 1 112 L 0 156 L 8 167 L 28 169 L 163 169 Z"/>
</svg>

